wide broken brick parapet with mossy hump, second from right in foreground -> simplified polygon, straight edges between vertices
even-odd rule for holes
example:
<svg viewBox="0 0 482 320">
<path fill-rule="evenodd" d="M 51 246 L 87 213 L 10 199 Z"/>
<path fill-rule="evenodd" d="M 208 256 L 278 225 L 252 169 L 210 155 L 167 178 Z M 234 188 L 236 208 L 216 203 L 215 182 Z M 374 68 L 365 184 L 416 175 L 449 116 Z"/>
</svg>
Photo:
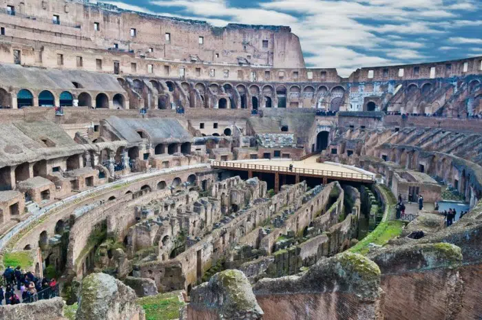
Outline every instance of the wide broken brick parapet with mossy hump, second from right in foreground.
<svg viewBox="0 0 482 320">
<path fill-rule="evenodd" d="M 355 253 L 323 259 L 302 275 L 261 279 L 253 292 L 263 320 L 383 319 L 380 269 Z"/>
</svg>

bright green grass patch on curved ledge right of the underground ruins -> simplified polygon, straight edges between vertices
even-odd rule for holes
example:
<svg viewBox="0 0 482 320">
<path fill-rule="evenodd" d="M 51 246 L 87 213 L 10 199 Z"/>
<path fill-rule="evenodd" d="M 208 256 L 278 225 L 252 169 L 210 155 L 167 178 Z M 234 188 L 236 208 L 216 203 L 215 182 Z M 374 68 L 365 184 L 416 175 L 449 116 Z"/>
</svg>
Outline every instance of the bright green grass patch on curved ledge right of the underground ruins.
<svg viewBox="0 0 482 320">
<path fill-rule="evenodd" d="M 373 243 L 383 246 L 390 239 L 401 235 L 404 225 L 404 222 L 398 220 L 381 222 L 374 231 L 364 237 L 364 239 L 358 242 L 355 246 L 350 248 L 350 252 L 366 255 L 369 251 L 368 244 Z"/>
</svg>

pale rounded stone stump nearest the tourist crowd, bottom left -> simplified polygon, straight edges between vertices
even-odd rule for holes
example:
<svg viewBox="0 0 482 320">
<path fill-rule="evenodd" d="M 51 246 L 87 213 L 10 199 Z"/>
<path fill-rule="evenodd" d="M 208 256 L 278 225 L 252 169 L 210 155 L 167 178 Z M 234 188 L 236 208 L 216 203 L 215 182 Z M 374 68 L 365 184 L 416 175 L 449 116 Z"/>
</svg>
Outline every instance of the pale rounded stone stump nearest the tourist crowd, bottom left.
<svg viewBox="0 0 482 320">
<path fill-rule="evenodd" d="M 105 273 L 92 273 L 82 280 L 76 320 L 140 320 L 143 310 L 136 292 Z"/>
</svg>

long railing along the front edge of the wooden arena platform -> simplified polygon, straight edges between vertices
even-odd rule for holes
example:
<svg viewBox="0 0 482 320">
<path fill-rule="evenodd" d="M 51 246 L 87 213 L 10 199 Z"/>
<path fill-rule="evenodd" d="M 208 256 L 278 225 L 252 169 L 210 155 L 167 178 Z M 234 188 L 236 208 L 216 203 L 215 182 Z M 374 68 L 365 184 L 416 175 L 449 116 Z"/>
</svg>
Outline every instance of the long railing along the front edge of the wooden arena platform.
<svg viewBox="0 0 482 320">
<path fill-rule="evenodd" d="M 253 171 L 275 171 L 280 173 L 300 174 L 300 175 L 318 175 L 320 177 L 326 177 L 331 179 L 346 179 L 346 180 L 362 180 L 367 182 L 374 182 L 375 177 L 373 175 L 367 175 L 364 173 L 348 173 L 342 171 L 320 170 L 320 169 L 307 169 L 307 168 L 293 168 L 279 167 L 264 164 L 251 164 L 240 162 L 220 162 L 213 161 L 211 167 L 218 167 L 222 169 L 244 169 Z"/>
</svg>

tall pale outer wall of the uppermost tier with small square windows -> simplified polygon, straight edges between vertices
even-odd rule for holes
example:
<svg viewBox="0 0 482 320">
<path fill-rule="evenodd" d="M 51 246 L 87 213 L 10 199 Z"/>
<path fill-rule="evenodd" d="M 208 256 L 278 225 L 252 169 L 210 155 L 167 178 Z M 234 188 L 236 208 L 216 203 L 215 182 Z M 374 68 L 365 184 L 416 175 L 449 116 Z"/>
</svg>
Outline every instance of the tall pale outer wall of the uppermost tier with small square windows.
<svg viewBox="0 0 482 320">
<path fill-rule="evenodd" d="M 168 60 L 238 63 L 241 59 L 257 65 L 304 67 L 300 41 L 289 27 L 216 28 L 204 21 L 160 17 L 88 1 L 0 3 L 1 8 L 14 6 L 14 15 L 0 12 L 6 33 L 29 41 L 87 49 L 116 48 Z"/>
</svg>

